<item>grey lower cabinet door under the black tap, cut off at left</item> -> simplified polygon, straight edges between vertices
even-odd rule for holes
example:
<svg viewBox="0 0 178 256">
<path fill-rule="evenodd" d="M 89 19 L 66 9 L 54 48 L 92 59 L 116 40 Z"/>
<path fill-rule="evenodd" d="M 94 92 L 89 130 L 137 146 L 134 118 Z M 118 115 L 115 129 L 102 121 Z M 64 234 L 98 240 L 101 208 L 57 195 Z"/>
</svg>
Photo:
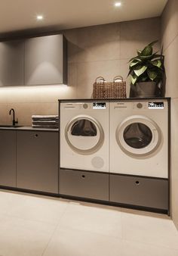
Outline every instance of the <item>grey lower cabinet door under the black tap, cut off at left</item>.
<svg viewBox="0 0 178 256">
<path fill-rule="evenodd" d="M 16 132 L 0 130 L 0 185 L 16 186 Z"/>
</svg>

